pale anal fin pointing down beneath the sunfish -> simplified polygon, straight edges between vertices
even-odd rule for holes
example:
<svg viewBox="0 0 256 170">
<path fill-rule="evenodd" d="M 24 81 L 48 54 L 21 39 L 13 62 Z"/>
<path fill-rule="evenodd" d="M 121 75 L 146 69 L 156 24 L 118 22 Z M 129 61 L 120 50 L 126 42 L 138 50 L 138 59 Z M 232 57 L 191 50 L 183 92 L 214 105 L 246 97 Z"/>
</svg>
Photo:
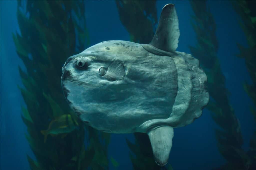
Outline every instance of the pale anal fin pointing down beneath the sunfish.
<svg viewBox="0 0 256 170">
<path fill-rule="evenodd" d="M 159 166 L 167 164 L 172 148 L 173 128 L 160 126 L 150 130 L 148 133 L 155 161 Z"/>
</svg>

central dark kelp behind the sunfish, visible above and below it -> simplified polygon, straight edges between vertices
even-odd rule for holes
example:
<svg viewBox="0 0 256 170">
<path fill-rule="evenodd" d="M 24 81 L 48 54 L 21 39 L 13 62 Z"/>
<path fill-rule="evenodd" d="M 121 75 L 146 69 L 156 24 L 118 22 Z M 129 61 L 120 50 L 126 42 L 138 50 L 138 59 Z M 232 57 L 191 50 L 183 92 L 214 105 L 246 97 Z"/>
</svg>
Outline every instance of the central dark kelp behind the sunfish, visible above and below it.
<svg viewBox="0 0 256 170">
<path fill-rule="evenodd" d="M 130 41 L 149 44 L 157 24 L 156 1 L 116 1 L 120 21 L 130 34 Z M 161 169 L 155 161 L 149 137 L 145 133 L 134 133 L 135 143 L 126 140 L 131 150 L 130 159 L 134 169 Z M 135 156 L 134 156 L 135 155 Z M 172 169 L 171 165 L 166 165 Z M 163 169 L 166 169 L 165 167 Z"/>
</svg>

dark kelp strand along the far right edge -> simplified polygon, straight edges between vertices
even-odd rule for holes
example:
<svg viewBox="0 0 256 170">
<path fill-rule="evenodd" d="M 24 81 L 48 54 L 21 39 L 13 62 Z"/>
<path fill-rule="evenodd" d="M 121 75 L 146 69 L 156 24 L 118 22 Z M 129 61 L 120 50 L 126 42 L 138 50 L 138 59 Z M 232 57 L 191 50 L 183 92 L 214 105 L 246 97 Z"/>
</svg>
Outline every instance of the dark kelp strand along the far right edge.
<svg viewBox="0 0 256 170">
<path fill-rule="evenodd" d="M 256 2 L 234 1 L 232 4 L 242 19 L 239 24 L 247 39 L 247 47 L 238 44 L 240 54 L 237 56 L 244 59 L 249 75 L 252 79 L 252 84 L 246 82 L 243 84 L 243 87 L 254 104 L 254 106 L 251 106 L 250 110 L 256 123 Z M 252 163 L 250 167 L 256 169 L 256 131 L 250 140 L 248 156 Z"/>
</svg>

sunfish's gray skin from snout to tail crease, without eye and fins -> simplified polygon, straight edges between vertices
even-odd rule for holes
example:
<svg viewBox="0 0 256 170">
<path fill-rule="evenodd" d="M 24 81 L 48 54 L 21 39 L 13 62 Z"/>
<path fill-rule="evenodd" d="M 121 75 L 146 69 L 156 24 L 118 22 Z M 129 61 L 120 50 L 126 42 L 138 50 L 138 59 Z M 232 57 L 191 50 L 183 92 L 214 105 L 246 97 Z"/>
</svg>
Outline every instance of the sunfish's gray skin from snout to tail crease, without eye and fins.
<svg viewBox="0 0 256 170">
<path fill-rule="evenodd" d="M 81 58 L 89 63 L 86 70 L 76 68 Z M 63 72 L 69 75 L 62 76 L 62 87 L 69 91 L 71 108 L 90 126 L 109 133 L 146 133 L 152 125 L 143 123 L 170 116 L 177 94 L 171 57 L 149 53 L 137 43 L 105 41 L 68 60 Z M 123 63 L 123 80 L 99 76 L 99 68 L 108 68 L 112 61 Z"/>
</svg>

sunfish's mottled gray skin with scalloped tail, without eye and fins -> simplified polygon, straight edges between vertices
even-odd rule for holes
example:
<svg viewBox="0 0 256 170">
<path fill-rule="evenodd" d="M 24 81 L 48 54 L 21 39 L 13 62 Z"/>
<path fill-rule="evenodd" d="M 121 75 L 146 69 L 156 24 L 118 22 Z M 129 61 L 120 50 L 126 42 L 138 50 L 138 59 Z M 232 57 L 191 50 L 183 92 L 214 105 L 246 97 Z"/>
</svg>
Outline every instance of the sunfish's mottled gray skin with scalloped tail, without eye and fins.
<svg viewBox="0 0 256 170">
<path fill-rule="evenodd" d="M 198 60 L 181 52 L 155 55 L 143 46 L 105 41 L 67 60 L 62 87 L 71 108 L 88 125 L 109 133 L 147 133 L 163 124 L 185 126 L 201 115 L 208 99 Z M 77 68 L 80 59 L 88 62 L 87 68 Z M 125 77 L 105 80 L 99 68 L 115 60 L 123 63 Z M 198 103 L 203 106 L 198 108 Z"/>
</svg>

